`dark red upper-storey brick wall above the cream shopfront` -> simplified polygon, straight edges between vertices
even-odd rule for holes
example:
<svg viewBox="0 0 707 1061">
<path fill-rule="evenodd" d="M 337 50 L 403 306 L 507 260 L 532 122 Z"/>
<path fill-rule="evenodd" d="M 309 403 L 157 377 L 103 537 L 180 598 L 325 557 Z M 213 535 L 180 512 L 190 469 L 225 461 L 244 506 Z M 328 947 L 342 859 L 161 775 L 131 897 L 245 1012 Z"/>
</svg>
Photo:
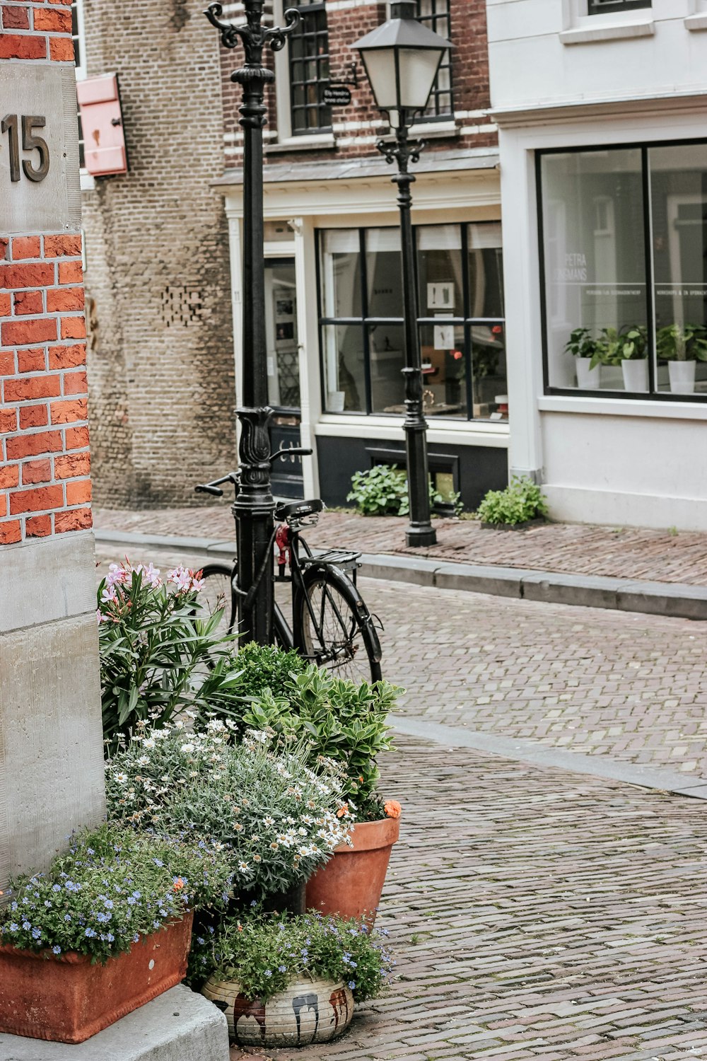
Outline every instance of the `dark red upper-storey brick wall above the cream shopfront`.
<svg viewBox="0 0 707 1061">
<path fill-rule="evenodd" d="M 332 80 L 348 80 L 350 65 L 355 59 L 358 86 L 351 89 L 350 106 L 334 108 L 334 136 L 337 140 L 335 146 L 320 151 L 300 152 L 293 146 L 291 151 L 286 153 L 279 149 L 270 156 L 270 162 L 275 164 L 283 161 L 315 161 L 318 158 L 338 159 L 366 155 L 379 157 L 372 141 L 387 134 L 388 125 L 373 105 L 358 53 L 352 50 L 351 45 L 379 25 L 386 17 L 387 4 L 385 2 L 361 3 L 359 6 L 352 7 L 335 7 L 328 4 L 326 24 Z M 232 20 L 240 22 L 242 16 L 233 16 Z M 266 16 L 266 21 L 270 24 L 270 15 Z M 485 0 L 452 0 L 450 24 L 450 39 L 454 46 L 452 52 L 453 99 L 458 131 L 449 136 L 431 139 L 426 149 L 427 155 L 434 151 L 484 147 L 495 145 L 498 142 L 495 129 L 476 129 L 478 125 L 490 124 L 489 119 L 466 117 L 470 111 L 484 110 L 491 105 Z M 231 71 L 240 66 L 241 62 L 242 53 L 240 50 L 226 51 L 222 49 L 224 132 L 227 137 L 231 137 L 226 143 L 228 150 L 225 164 L 227 168 L 240 167 L 243 162 L 242 152 L 233 151 L 234 146 L 236 149 L 240 146 L 237 105 L 241 99 L 241 89 L 230 82 Z M 272 65 L 271 56 L 266 58 L 266 63 L 269 66 Z M 277 85 L 269 88 L 266 95 L 268 104 L 266 145 L 270 142 L 277 142 L 277 136 L 271 135 L 277 133 L 276 91 Z M 357 123 L 364 123 L 364 128 L 353 127 Z M 430 123 L 429 128 L 430 133 L 434 134 L 435 124 Z M 232 140 L 234 134 L 237 138 L 235 145 Z"/>
</svg>

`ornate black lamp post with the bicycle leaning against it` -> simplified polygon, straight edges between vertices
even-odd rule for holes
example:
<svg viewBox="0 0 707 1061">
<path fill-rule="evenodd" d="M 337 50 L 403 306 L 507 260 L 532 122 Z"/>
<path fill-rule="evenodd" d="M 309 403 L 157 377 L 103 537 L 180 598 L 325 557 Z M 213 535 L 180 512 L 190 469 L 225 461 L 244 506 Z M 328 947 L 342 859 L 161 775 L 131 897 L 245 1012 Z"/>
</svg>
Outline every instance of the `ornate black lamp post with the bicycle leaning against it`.
<svg viewBox="0 0 707 1061">
<path fill-rule="evenodd" d="M 238 582 L 246 591 L 255 586 L 271 551 L 275 501 L 270 489 L 272 410 L 267 404 L 267 352 L 265 344 L 265 262 L 263 254 L 263 126 L 266 119 L 265 85 L 275 81 L 263 66 L 263 51 L 284 48 L 297 27 L 299 12 L 285 12 L 284 29 L 262 24 L 263 0 L 245 0 L 246 22 L 220 21 L 223 7 L 212 3 L 205 15 L 220 32 L 225 48 L 243 45 L 246 63 L 231 81 L 243 86 L 238 108 L 243 126 L 243 389 L 236 408 L 241 421 L 238 467 L 241 486 L 233 504 L 238 555 Z M 252 593 L 238 595 L 238 630 L 246 641 L 272 642 L 272 579 L 269 570 Z"/>
</svg>

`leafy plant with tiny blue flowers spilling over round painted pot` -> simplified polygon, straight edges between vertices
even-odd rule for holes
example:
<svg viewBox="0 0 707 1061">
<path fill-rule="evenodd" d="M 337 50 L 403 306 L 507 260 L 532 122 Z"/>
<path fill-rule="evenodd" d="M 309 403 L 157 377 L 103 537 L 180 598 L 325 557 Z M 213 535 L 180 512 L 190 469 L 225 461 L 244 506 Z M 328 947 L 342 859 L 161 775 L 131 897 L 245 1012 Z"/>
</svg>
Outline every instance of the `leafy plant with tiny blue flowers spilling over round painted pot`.
<svg viewBox="0 0 707 1061">
<path fill-rule="evenodd" d="M 351 989 L 355 1002 L 381 993 L 392 961 L 385 940 L 365 922 L 320 914 L 244 915 L 201 938 L 190 960 L 193 979 L 215 972 L 245 996 L 267 1003 L 297 978 L 322 977 Z"/>
</svg>

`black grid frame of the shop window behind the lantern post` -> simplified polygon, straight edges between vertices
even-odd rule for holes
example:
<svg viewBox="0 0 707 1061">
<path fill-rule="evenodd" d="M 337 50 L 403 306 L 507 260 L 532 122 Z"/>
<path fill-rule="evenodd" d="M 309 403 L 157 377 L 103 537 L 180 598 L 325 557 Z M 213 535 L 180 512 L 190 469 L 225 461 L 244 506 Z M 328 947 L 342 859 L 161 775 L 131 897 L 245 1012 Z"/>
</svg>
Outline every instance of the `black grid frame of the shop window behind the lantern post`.
<svg viewBox="0 0 707 1061">
<path fill-rule="evenodd" d="M 444 318 L 444 324 L 454 325 L 455 328 L 463 327 L 464 330 L 464 392 L 466 400 L 466 413 L 464 416 L 440 416 L 436 419 L 444 420 L 445 422 L 453 423 L 493 423 L 495 421 L 490 420 L 489 417 L 475 417 L 474 416 L 474 380 L 473 380 L 473 369 L 474 369 L 474 345 L 472 337 L 472 329 L 477 325 L 488 325 L 489 327 L 495 327 L 500 325 L 503 329 L 503 350 L 506 351 L 506 317 L 480 317 L 473 316 L 467 311 L 471 309 L 470 306 L 470 279 L 469 279 L 469 228 L 471 225 L 499 225 L 501 224 L 500 219 L 491 221 L 461 221 L 452 222 L 450 224 L 458 225 L 461 229 L 461 262 L 462 262 L 462 286 L 463 286 L 463 310 L 464 314 L 461 316 L 450 316 Z M 391 229 L 395 230 L 399 226 L 396 225 L 369 225 L 369 226 L 341 226 L 348 230 L 358 232 L 358 254 L 360 260 L 360 298 L 361 298 L 361 315 L 355 317 L 325 317 L 322 314 L 322 282 L 321 282 L 321 260 L 322 260 L 322 234 L 326 231 L 333 231 L 332 228 L 317 228 L 315 230 L 316 238 L 316 277 L 317 277 L 317 317 L 319 321 L 318 326 L 318 337 L 319 337 L 319 383 L 321 393 L 321 408 L 323 413 L 330 413 L 331 411 L 326 408 L 326 384 L 325 384 L 325 373 L 324 373 L 324 340 L 323 330 L 326 326 L 336 325 L 356 325 L 360 327 L 363 332 L 363 347 L 364 347 L 364 380 L 365 380 L 365 408 L 360 410 L 343 410 L 342 412 L 333 413 L 335 416 L 387 416 L 391 419 L 400 419 L 404 417 L 404 413 L 384 413 L 379 410 L 373 408 L 372 403 L 372 388 L 371 388 L 371 354 L 370 354 L 370 343 L 369 343 L 369 332 L 370 326 L 376 324 L 385 325 L 397 325 L 402 327 L 405 324 L 404 317 L 372 317 L 367 315 L 368 311 L 368 269 L 367 269 L 367 254 L 366 254 L 366 232 L 370 229 Z M 428 225 L 413 225 L 412 227 L 412 238 L 414 240 L 416 255 L 414 255 L 414 284 L 416 290 L 419 290 L 419 276 L 418 276 L 418 261 L 419 261 L 419 250 L 418 250 L 418 231 L 423 228 L 436 228 L 438 225 L 436 223 L 430 223 Z M 501 255 L 502 255 L 502 244 L 501 244 Z M 506 308 L 506 297 L 502 292 L 503 275 L 501 271 L 501 293 L 503 299 L 503 309 Z M 435 316 L 427 316 L 423 314 L 418 314 L 418 331 L 425 325 L 439 325 L 440 318 Z M 508 363 L 506 368 L 506 382 L 508 385 Z M 506 422 L 508 421 L 500 421 Z"/>
</svg>

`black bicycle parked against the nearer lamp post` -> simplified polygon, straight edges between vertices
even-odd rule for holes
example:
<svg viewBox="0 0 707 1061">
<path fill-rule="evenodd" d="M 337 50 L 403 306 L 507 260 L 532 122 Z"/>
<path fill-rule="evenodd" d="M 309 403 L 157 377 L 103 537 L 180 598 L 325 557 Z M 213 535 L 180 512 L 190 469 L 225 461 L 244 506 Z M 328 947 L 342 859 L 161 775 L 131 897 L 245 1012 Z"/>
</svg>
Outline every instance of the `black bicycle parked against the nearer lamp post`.
<svg viewBox="0 0 707 1061">
<path fill-rule="evenodd" d="M 281 457 L 311 454 L 308 449 L 281 449 L 271 453 L 268 460 L 272 464 Z M 199 483 L 194 489 L 197 493 L 220 498 L 224 495 L 223 483 L 231 483 L 237 494 L 238 472 L 229 472 L 212 483 Z M 276 557 L 272 552 L 269 577 L 273 578 L 276 588 L 284 584 L 291 587 L 291 626 L 278 602 L 273 601 L 275 641 L 281 648 L 296 648 L 303 659 L 342 678 L 378 681 L 382 677 L 381 642 L 373 616 L 356 586 L 360 553 L 332 549 L 315 555 L 302 537 L 303 529 L 316 526 L 323 508 L 324 503 L 319 498 L 279 502 L 275 507 L 276 525 L 268 550 L 277 546 L 278 553 Z M 235 629 L 238 595 L 253 593 L 266 572 L 267 564 L 261 569 L 255 586 L 244 589 L 238 585 L 237 557 L 231 566 L 209 563 L 204 568 L 205 586 L 200 598 L 211 612 L 224 608 L 220 626 L 224 633 Z"/>
</svg>

